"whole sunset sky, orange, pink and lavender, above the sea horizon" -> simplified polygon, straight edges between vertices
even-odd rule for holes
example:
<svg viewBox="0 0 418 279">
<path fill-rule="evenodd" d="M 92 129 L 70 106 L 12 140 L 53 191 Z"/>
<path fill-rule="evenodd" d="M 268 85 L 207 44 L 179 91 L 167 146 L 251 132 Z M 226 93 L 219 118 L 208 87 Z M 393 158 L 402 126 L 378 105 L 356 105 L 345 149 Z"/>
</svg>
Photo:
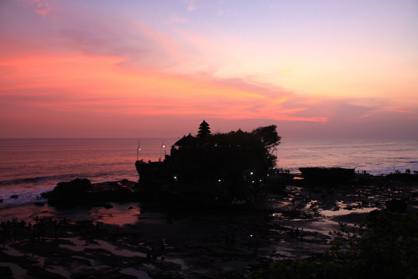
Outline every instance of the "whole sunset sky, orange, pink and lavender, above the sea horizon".
<svg viewBox="0 0 418 279">
<path fill-rule="evenodd" d="M 418 2 L 0 2 L 0 138 L 418 138 Z"/>
</svg>

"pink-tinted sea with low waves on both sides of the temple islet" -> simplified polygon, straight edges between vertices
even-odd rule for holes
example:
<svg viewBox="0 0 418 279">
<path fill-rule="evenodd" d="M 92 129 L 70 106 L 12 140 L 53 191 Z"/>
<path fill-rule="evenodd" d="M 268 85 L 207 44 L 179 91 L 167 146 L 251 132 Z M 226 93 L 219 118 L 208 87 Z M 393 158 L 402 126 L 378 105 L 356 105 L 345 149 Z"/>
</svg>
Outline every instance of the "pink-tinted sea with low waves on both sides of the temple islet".
<svg viewBox="0 0 418 279">
<path fill-rule="evenodd" d="M 167 148 L 161 148 L 163 141 Z M 139 159 L 157 161 L 177 138 L 143 138 Z M 92 182 L 138 180 L 138 139 L 0 139 L 0 209 L 36 201 L 57 182 L 77 177 Z M 276 153 L 276 151 L 274 151 Z M 418 141 L 370 139 L 283 139 L 277 167 L 339 166 L 388 174 L 418 170 Z M 11 195 L 20 195 L 10 199 Z M 1 214 L 0 214 L 1 215 Z"/>
</svg>

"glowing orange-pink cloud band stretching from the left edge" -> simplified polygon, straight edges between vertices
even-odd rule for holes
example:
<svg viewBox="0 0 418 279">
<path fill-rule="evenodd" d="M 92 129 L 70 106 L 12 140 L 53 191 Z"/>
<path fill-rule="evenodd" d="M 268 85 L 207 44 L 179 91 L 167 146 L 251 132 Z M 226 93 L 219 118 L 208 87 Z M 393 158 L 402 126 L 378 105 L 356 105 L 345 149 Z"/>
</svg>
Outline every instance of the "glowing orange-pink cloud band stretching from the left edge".
<svg viewBox="0 0 418 279">
<path fill-rule="evenodd" d="M 298 120 L 286 115 L 304 109 L 283 109 L 289 99 L 283 92 L 274 94 L 245 82 L 167 74 L 158 69 L 129 69 L 120 66 L 123 61 L 121 57 L 82 54 L 3 58 L 0 66 L 7 71 L 1 77 L 1 95 L 42 90 L 31 92 L 31 100 L 19 102 L 29 107 L 94 107 L 92 111 L 137 115 L 200 113 L 227 119 Z M 64 92 L 71 95 L 64 97 L 68 94 Z M 51 94 L 50 100 L 43 97 Z"/>
</svg>

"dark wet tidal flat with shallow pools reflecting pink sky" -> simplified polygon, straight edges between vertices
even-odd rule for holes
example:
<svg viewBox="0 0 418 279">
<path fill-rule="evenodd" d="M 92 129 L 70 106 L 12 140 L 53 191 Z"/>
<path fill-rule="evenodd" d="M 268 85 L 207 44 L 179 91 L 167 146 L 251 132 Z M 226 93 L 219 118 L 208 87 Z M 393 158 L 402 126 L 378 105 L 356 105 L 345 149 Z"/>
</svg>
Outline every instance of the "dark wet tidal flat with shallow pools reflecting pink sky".
<svg viewBox="0 0 418 279">
<path fill-rule="evenodd" d="M 145 211 L 146 206 L 132 202 L 74 214 L 45 207 L 45 218 L 62 220 L 67 214 L 69 223 L 59 226 L 58 239 L 52 224 L 46 225 L 46 238 L 33 244 L 27 228 L 2 231 L 0 266 L 9 266 L 14 278 L 21 279 L 245 278 L 275 259 L 314 259 L 330 246 L 328 232 L 338 230 L 338 222 L 360 223 L 368 212 L 382 208 L 384 200 L 417 187 L 398 187 L 395 193 L 373 185 L 336 189 L 322 200 L 320 194 L 309 197 L 308 189 L 289 186 L 287 196 L 268 192 L 252 210 L 225 214 Z M 416 210 L 417 201 L 408 204 L 408 210 Z M 98 222 L 100 229 L 86 230 L 84 220 Z M 290 239 L 291 227 L 305 230 L 303 241 Z M 145 256 L 152 248 L 157 260 Z"/>
</svg>

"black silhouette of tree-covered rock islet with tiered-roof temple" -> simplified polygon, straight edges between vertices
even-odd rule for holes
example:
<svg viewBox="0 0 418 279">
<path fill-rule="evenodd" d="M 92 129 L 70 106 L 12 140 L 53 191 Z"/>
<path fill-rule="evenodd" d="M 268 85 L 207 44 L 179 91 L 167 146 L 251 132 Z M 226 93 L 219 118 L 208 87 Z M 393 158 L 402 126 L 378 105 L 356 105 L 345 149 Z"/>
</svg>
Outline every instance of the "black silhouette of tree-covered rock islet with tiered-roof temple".
<svg viewBox="0 0 418 279">
<path fill-rule="evenodd" d="M 139 187 L 158 195 L 170 192 L 218 202 L 247 197 L 266 183 L 275 165 L 276 156 L 269 153 L 280 143 L 275 129 L 271 125 L 252 132 L 212 133 L 203 120 L 197 136 L 184 135 L 162 161 L 136 161 Z"/>
</svg>

